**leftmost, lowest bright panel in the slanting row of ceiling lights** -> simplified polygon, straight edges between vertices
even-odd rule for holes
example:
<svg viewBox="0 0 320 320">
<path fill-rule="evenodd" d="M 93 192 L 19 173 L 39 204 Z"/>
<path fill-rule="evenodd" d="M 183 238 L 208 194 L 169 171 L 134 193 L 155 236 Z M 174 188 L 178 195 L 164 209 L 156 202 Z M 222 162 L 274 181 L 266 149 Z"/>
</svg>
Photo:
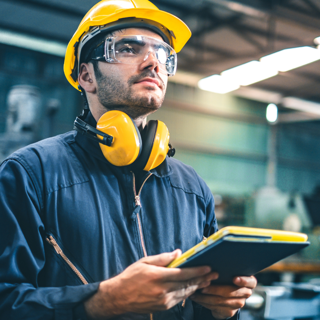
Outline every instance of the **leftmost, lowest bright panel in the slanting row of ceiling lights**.
<svg viewBox="0 0 320 320">
<path fill-rule="evenodd" d="M 198 87 L 215 93 L 227 93 L 240 88 L 240 85 L 226 77 L 213 75 L 199 80 Z"/>
</svg>

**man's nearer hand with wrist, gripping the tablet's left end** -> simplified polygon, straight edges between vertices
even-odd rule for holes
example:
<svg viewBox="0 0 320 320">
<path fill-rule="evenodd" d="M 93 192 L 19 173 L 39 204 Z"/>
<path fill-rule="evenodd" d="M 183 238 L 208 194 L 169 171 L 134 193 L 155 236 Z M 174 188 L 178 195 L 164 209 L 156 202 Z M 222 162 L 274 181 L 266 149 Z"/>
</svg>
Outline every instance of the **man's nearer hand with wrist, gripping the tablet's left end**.
<svg viewBox="0 0 320 320">
<path fill-rule="evenodd" d="M 92 319 L 108 319 L 126 312 L 167 310 L 218 278 L 210 267 L 165 268 L 181 250 L 142 258 L 118 276 L 100 283 L 84 302 Z"/>
</svg>

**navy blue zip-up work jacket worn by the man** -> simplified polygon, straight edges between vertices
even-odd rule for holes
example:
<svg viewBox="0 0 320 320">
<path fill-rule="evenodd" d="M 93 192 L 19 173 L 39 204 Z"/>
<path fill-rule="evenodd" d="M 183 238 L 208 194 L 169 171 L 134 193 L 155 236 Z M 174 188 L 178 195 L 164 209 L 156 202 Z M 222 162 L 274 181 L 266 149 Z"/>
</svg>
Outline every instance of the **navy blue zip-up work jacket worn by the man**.
<svg viewBox="0 0 320 320">
<path fill-rule="evenodd" d="M 89 113 L 87 122 L 96 122 Z M 148 255 L 182 252 L 217 231 L 210 189 L 172 158 L 151 170 L 140 216 Z M 146 172 L 146 176 L 150 172 Z M 0 318 L 86 319 L 99 283 L 143 257 L 128 167 L 71 131 L 22 148 L 0 166 Z M 46 241 L 52 236 L 88 284 Z M 117 319 L 148 319 L 126 314 Z M 154 319 L 212 319 L 186 301 Z"/>
</svg>

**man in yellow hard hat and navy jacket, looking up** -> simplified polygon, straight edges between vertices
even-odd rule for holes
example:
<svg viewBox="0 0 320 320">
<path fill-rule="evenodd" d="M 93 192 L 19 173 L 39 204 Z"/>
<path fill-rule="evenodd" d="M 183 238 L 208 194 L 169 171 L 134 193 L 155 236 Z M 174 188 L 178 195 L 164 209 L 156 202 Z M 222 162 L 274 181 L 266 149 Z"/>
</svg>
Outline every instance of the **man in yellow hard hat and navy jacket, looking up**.
<svg viewBox="0 0 320 320">
<path fill-rule="evenodd" d="M 180 31 L 187 29 L 169 14 L 180 29 L 164 29 L 154 20 L 141 24 L 132 17 L 164 13 L 147 0 L 137 3 L 103 0 L 93 7 L 75 34 L 78 42 L 68 46 L 65 71 L 70 69 L 69 82 L 79 84 L 89 105 L 85 123 L 95 128 L 107 111 L 120 110 L 143 137 L 146 116 L 161 107 L 172 71 L 159 48 L 182 47 Z M 111 29 L 99 25 L 107 32 L 95 36 L 94 27 L 80 28 L 102 13 L 111 19 L 110 11 L 122 16 L 109 22 Z M 82 45 L 87 35 L 90 41 Z M 130 36 L 135 40 L 128 41 Z M 115 49 L 116 37 L 123 37 L 124 51 Z M 109 40 L 112 61 L 108 48 L 104 60 L 97 55 Z M 142 59 L 117 60 L 120 52 L 137 53 L 133 43 L 140 45 Z M 71 56 L 78 60 L 73 67 Z M 211 285 L 219 275 L 207 266 L 165 268 L 181 250 L 217 231 L 210 189 L 172 158 L 149 172 L 139 157 L 116 166 L 98 142 L 68 132 L 4 161 L 0 212 L 1 319 L 237 318 L 256 285 L 254 277 L 236 277 L 234 286 Z"/>
</svg>

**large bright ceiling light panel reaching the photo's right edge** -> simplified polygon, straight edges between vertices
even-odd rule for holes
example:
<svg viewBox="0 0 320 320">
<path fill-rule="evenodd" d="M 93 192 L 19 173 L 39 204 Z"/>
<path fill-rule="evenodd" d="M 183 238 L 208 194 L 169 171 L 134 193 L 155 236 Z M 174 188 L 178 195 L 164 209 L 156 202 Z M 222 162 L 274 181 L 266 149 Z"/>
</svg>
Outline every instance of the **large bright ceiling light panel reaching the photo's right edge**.
<svg viewBox="0 0 320 320">
<path fill-rule="evenodd" d="M 284 49 L 262 57 L 260 61 L 269 68 L 285 72 L 319 59 L 320 50 L 306 46 Z"/>
</svg>

